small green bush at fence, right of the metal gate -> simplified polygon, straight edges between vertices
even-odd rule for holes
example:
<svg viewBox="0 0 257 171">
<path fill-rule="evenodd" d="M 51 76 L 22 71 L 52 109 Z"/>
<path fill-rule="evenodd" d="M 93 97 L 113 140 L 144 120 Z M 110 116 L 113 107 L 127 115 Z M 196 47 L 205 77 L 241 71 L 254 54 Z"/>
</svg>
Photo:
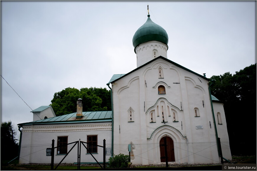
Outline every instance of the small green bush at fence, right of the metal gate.
<svg viewBox="0 0 257 171">
<path fill-rule="evenodd" d="M 119 154 L 109 158 L 110 168 L 127 168 L 129 162 L 129 155 Z"/>
</svg>

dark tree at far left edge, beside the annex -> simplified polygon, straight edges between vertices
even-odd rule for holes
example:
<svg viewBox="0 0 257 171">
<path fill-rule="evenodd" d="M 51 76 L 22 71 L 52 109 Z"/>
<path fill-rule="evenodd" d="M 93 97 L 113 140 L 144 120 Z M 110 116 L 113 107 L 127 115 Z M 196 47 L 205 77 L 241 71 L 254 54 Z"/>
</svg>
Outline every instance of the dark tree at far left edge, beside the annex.
<svg viewBox="0 0 257 171">
<path fill-rule="evenodd" d="M 18 155 L 16 131 L 11 121 L 1 123 L 1 158 L 12 160 Z"/>
</svg>

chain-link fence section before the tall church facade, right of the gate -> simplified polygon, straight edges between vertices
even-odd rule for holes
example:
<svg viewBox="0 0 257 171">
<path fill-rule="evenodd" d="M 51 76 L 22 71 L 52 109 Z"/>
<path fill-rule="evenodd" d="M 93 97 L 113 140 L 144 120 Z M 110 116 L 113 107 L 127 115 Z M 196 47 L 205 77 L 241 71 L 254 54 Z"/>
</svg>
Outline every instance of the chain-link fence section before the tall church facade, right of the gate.
<svg viewBox="0 0 257 171">
<path fill-rule="evenodd" d="M 228 160 L 231 160 L 229 142 L 221 142 L 222 154 Z M 111 147 L 111 144 L 106 144 Z M 114 144 L 114 155 L 120 153 L 129 155 L 128 144 Z M 161 162 L 161 150 L 159 143 L 149 144 L 131 144 L 130 152 L 131 162 L 134 165 L 157 165 Z M 217 150 L 217 142 L 174 142 L 174 162 L 170 164 L 212 164 L 220 163 Z"/>
</svg>

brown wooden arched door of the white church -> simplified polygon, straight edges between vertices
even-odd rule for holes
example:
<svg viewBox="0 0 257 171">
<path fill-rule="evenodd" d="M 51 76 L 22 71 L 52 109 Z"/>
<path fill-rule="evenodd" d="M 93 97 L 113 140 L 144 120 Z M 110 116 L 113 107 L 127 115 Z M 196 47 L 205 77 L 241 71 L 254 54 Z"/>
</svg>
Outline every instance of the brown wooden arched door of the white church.
<svg viewBox="0 0 257 171">
<path fill-rule="evenodd" d="M 175 155 L 174 155 L 174 143 L 170 137 L 166 137 L 166 145 L 167 145 L 167 157 L 168 162 L 175 162 Z M 165 162 L 165 147 L 164 147 L 164 138 L 162 137 L 160 140 L 160 154 L 161 154 L 161 162 Z"/>
</svg>

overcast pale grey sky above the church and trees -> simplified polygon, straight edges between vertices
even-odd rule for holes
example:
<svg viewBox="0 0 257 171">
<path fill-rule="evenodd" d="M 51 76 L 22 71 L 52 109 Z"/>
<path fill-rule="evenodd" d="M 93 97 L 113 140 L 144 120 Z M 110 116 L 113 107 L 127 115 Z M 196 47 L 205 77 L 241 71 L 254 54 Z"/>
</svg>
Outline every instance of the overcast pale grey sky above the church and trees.
<svg viewBox="0 0 257 171">
<path fill-rule="evenodd" d="M 132 37 L 147 19 L 168 59 L 210 78 L 256 63 L 256 1 L 1 1 L 1 75 L 32 108 L 67 87 L 108 87 L 136 68 Z M 32 121 L 1 78 L 1 122 Z"/>
</svg>

